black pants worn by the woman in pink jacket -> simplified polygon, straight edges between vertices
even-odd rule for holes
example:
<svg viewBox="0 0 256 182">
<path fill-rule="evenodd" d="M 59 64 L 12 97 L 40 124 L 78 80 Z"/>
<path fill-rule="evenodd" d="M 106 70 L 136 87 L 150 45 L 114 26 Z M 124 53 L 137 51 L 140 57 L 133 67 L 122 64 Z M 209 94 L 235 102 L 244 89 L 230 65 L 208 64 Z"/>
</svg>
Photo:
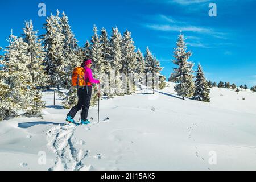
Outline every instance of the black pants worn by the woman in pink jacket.
<svg viewBox="0 0 256 182">
<path fill-rule="evenodd" d="M 88 89 L 88 92 L 87 92 Z M 68 113 L 72 118 L 75 117 L 76 113 L 82 109 L 81 119 L 86 121 L 88 117 L 88 111 L 90 107 L 90 98 L 92 97 L 92 86 L 86 86 L 78 90 L 79 101 L 75 107 Z"/>
</svg>

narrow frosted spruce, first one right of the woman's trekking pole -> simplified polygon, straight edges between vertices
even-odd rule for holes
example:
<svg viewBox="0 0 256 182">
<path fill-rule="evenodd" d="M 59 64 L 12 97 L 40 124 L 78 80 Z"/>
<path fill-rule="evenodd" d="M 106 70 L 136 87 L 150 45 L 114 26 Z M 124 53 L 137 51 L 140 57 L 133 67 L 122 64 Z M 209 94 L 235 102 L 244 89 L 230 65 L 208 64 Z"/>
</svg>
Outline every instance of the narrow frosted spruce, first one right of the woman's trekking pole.
<svg viewBox="0 0 256 182">
<path fill-rule="evenodd" d="M 101 46 L 102 46 L 102 64 L 103 64 L 103 72 L 106 75 L 106 80 L 104 80 L 105 84 L 108 84 L 105 88 L 102 88 L 105 91 L 105 95 L 112 97 L 111 94 L 111 82 L 114 82 L 114 78 L 111 77 L 111 47 L 108 37 L 108 32 L 105 28 L 101 29 Z M 104 79 L 104 78 L 103 78 Z M 102 80 L 103 81 L 103 80 Z M 105 86 L 105 85 L 104 85 Z"/>
</svg>

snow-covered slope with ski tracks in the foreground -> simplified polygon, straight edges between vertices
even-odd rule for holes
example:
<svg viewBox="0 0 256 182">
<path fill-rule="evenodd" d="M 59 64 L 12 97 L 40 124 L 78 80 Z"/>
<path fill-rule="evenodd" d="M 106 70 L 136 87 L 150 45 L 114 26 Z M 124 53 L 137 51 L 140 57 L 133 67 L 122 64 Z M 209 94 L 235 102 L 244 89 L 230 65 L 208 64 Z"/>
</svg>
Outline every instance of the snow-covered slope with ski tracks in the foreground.
<svg viewBox="0 0 256 182">
<path fill-rule="evenodd" d="M 138 90 L 101 100 L 101 122 L 89 126 L 63 126 L 69 110 L 52 106 L 52 92 L 44 92 L 43 119 L 0 123 L 0 169 L 256 169 L 256 93 L 212 88 L 204 103 L 181 100 L 170 85 L 156 96 Z M 97 108 L 90 117 L 97 121 Z M 216 165 L 208 162 L 212 152 Z"/>
</svg>

